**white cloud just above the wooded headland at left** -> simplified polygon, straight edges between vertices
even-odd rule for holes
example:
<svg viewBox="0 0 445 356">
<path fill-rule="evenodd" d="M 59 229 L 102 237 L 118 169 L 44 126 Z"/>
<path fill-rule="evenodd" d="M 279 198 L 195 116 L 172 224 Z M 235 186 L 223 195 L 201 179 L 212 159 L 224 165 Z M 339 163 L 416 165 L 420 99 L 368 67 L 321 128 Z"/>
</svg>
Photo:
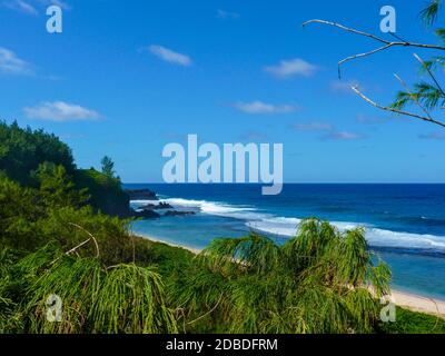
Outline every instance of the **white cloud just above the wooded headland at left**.
<svg viewBox="0 0 445 356">
<path fill-rule="evenodd" d="M 27 107 L 23 111 L 30 119 L 57 122 L 97 120 L 101 117 L 95 110 L 65 101 L 42 102 L 36 107 Z"/>
</svg>

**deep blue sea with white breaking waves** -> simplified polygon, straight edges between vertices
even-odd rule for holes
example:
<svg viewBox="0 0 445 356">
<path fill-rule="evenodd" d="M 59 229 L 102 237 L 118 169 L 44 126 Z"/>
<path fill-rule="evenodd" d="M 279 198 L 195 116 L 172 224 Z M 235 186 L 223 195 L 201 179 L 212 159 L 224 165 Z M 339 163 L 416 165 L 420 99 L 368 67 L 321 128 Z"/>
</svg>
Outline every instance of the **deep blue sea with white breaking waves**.
<svg viewBox="0 0 445 356">
<path fill-rule="evenodd" d="M 285 241 L 303 218 L 340 230 L 364 226 L 373 250 L 392 267 L 393 287 L 445 299 L 445 185 L 125 185 L 149 188 L 178 210 L 197 214 L 136 221 L 136 234 L 191 248 L 254 229 Z M 132 201 L 137 208 L 148 201 Z"/>
</svg>

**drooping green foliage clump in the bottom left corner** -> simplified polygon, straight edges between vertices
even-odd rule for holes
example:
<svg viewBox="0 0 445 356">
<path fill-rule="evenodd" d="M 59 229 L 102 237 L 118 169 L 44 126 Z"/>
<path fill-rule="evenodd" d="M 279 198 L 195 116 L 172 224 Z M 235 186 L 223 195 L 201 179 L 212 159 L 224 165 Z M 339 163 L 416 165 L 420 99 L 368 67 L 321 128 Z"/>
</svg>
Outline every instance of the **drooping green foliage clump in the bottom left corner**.
<svg viewBox="0 0 445 356">
<path fill-rule="evenodd" d="M 176 333 L 161 277 L 135 264 L 103 266 L 51 244 L 4 270 L 0 333 Z M 48 320 L 48 298 L 62 301 L 61 322 Z M 13 301 L 14 300 L 14 301 Z"/>
</svg>

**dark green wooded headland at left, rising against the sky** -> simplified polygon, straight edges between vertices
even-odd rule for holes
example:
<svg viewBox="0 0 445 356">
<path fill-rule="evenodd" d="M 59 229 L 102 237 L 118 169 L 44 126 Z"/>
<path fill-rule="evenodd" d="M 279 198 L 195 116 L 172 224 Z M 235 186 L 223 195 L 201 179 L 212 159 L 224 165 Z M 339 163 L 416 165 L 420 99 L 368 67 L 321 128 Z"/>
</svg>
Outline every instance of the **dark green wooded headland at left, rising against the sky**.
<svg viewBox="0 0 445 356">
<path fill-rule="evenodd" d="M 55 135 L 0 121 L 0 172 L 22 187 L 47 190 L 49 199 L 68 198 L 62 205 L 88 204 L 103 214 L 127 217 L 129 198 L 115 177 L 115 164 L 106 156 L 101 165 L 102 172 L 77 169 L 71 149 Z M 63 190 L 82 197 L 65 195 Z"/>
</svg>

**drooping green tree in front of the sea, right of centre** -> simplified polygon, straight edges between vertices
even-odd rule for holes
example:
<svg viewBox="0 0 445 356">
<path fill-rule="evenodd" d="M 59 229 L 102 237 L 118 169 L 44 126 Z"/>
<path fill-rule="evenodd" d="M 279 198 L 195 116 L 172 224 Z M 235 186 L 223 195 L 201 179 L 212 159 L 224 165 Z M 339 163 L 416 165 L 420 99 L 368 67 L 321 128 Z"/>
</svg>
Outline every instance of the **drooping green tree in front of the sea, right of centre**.
<svg viewBox="0 0 445 356">
<path fill-rule="evenodd" d="M 373 260 L 364 235 L 308 219 L 283 246 L 256 234 L 214 240 L 200 255 L 207 269 L 190 273 L 178 291 L 184 325 L 205 319 L 226 333 L 370 333 L 390 273 Z"/>
</svg>

